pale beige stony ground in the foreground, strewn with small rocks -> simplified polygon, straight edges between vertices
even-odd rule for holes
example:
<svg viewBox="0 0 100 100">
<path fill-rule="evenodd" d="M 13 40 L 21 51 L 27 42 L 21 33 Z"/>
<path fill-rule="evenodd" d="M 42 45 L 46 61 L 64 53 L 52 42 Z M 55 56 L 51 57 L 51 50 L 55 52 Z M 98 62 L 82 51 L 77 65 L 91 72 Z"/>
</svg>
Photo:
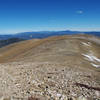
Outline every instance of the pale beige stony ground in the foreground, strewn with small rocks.
<svg viewBox="0 0 100 100">
<path fill-rule="evenodd" d="M 1 100 L 100 100 L 100 81 L 91 69 L 48 62 L 13 62 L 0 69 Z"/>
</svg>

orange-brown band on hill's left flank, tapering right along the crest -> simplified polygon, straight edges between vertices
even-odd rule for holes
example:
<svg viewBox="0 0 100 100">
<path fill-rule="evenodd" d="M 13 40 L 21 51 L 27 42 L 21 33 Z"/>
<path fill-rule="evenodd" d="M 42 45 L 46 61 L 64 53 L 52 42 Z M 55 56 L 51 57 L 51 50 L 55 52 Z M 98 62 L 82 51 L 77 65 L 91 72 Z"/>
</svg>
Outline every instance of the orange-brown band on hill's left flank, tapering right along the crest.
<svg viewBox="0 0 100 100">
<path fill-rule="evenodd" d="M 29 53 L 30 50 L 34 49 L 35 47 L 43 43 L 53 42 L 57 40 L 71 39 L 71 38 L 73 39 L 73 37 L 75 36 L 80 36 L 80 35 L 55 36 L 38 41 L 34 41 L 34 39 L 32 39 L 8 45 L 0 49 L 0 63 L 16 61 L 16 59 L 24 58 Z"/>
</svg>

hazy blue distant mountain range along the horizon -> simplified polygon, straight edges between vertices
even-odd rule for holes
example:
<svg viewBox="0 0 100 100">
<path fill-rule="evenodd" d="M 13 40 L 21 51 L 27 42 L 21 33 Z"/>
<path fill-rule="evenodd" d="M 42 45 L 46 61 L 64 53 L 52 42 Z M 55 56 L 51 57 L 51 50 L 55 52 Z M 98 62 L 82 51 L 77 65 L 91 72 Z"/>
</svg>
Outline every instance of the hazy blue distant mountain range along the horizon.
<svg viewBox="0 0 100 100">
<path fill-rule="evenodd" d="M 95 36 L 100 36 L 100 32 L 81 32 L 81 31 L 40 31 L 40 32 L 23 32 L 17 34 L 9 35 L 0 35 L 0 40 L 6 40 L 9 38 L 21 38 L 21 39 L 42 39 L 50 36 L 60 36 L 60 35 L 69 35 L 69 34 L 91 34 Z"/>
</svg>

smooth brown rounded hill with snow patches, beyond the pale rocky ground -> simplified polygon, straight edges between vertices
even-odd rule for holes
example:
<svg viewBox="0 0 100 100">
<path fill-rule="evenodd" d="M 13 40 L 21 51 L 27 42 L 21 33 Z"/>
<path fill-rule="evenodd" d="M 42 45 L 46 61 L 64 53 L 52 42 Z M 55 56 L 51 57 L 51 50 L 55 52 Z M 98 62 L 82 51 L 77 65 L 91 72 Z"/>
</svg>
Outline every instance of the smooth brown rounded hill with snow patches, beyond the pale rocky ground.
<svg viewBox="0 0 100 100">
<path fill-rule="evenodd" d="M 0 49 L 0 62 L 9 61 L 100 67 L 100 39 L 90 35 L 69 35 L 28 40 Z"/>
</svg>

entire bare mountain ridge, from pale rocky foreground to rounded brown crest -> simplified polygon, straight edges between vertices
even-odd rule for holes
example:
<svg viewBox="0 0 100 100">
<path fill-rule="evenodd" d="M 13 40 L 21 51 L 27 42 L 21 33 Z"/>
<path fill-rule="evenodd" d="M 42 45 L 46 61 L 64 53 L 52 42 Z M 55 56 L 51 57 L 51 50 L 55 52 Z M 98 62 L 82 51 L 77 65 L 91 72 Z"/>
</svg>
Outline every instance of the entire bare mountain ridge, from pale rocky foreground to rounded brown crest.
<svg viewBox="0 0 100 100">
<path fill-rule="evenodd" d="M 0 53 L 2 100 L 100 100 L 100 38 L 33 39 Z"/>
</svg>

